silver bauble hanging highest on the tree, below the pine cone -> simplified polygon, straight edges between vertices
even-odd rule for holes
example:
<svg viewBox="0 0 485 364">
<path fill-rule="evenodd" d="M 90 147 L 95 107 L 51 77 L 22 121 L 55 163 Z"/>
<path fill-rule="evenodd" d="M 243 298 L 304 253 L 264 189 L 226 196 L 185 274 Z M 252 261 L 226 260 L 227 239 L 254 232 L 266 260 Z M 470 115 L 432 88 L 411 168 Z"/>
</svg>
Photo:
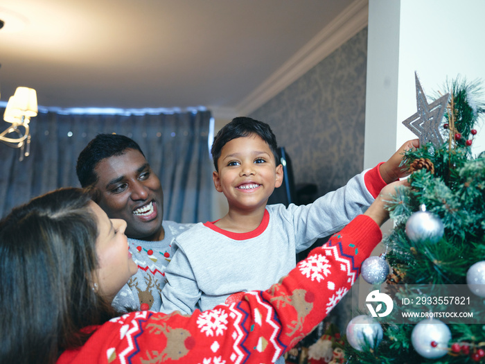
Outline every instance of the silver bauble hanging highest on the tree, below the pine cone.
<svg viewBox="0 0 485 364">
<path fill-rule="evenodd" d="M 406 234 L 413 243 L 429 241 L 437 243 L 443 237 L 445 228 L 440 218 L 430 212 L 427 212 L 424 205 L 421 205 L 421 211 L 412 214 L 406 222 Z"/>
</svg>

